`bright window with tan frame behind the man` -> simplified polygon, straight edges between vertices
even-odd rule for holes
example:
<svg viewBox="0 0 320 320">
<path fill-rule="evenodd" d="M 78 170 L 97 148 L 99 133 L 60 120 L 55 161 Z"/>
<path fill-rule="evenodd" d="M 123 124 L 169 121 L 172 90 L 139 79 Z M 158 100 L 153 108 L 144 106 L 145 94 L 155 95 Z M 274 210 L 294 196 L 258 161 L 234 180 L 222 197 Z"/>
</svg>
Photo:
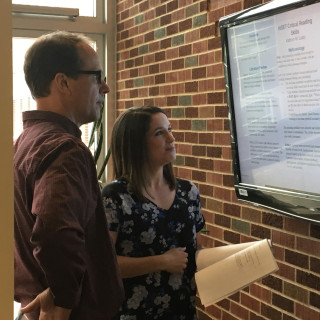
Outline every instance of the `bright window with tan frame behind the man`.
<svg viewBox="0 0 320 320">
<path fill-rule="evenodd" d="M 111 89 L 111 93 L 106 96 L 105 100 L 105 118 L 108 114 L 107 110 L 114 108 L 115 72 L 113 70 L 107 70 L 107 62 L 110 66 L 116 65 L 114 62 L 115 53 L 111 52 L 110 55 L 106 55 L 106 41 L 108 40 L 110 48 L 115 48 L 115 24 L 110 27 L 106 22 L 106 1 L 107 0 L 12 0 L 14 139 L 17 138 L 22 130 L 21 112 L 35 108 L 35 102 L 24 80 L 24 53 L 37 37 L 52 30 L 84 33 L 93 40 L 93 46 L 98 52 L 102 66 L 105 68 L 108 86 Z M 110 1 L 110 5 L 112 7 L 109 9 L 112 10 L 108 12 L 108 16 L 110 17 L 108 21 L 115 19 L 113 12 L 115 11 L 114 1 Z M 48 7 L 51 8 L 51 10 L 48 10 Z M 31 13 L 27 10 L 28 8 L 32 8 L 32 10 L 30 10 L 32 11 Z M 76 18 L 69 17 L 68 12 L 70 12 L 70 9 L 68 8 L 78 9 L 79 15 Z M 55 14 L 55 10 L 59 14 Z M 64 12 L 66 12 L 66 15 L 63 15 Z M 113 111 L 109 113 L 113 114 Z M 105 128 L 107 128 L 106 125 Z M 82 138 L 84 142 L 88 142 L 90 126 L 82 126 L 80 129 L 83 132 Z M 105 136 L 107 136 L 107 133 L 105 133 Z M 106 140 L 107 139 L 105 139 L 105 143 Z M 104 146 L 101 155 L 102 159 L 106 154 L 106 150 L 107 148 Z M 103 180 L 105 180 L 105 177 Z M 14 316 L 17 315 L 18 310 L 19 304 L 15 303 Z"/>
</svg>

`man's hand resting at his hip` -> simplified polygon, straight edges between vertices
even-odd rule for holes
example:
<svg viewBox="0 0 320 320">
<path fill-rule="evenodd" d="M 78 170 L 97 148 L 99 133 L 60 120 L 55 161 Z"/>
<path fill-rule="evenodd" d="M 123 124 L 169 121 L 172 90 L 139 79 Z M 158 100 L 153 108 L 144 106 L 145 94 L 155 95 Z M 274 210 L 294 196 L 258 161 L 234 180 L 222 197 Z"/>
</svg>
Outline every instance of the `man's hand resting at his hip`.
<svg viewBox="0 0 320 320">
<path fill-rule="evenodd" d="M 68 320 L 71 314 L 71 309 L 65 309 L 54 305 L 50 288 L 47 288 L 38 294 L 27 306 L 21 308 L 21 312 L 30 313 L 39 309 L 39 320 Z"/>
</svg>

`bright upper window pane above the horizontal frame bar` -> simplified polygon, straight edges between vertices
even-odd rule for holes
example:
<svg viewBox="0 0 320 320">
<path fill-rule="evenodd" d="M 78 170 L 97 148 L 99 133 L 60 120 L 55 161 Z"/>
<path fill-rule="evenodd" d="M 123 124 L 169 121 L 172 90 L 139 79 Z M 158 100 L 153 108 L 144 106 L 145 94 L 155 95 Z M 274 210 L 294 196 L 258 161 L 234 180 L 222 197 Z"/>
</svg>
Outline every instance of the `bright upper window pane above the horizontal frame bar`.
<svg viewBox="0 0 320 320">
<path fill-rule="evenodd" d="M 96 0 L 12 0 L 12 4 L 60 8 L 78 8 L 79 14 L 81 16 L 96 16 Z"/>
</svg>

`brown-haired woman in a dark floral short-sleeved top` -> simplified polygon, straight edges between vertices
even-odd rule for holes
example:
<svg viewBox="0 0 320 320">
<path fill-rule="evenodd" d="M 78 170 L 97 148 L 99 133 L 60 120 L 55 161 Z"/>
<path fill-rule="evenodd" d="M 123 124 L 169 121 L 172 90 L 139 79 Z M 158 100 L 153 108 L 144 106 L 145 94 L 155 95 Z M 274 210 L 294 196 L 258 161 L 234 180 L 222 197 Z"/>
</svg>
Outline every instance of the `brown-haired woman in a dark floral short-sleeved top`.
<svg viewBox="0 0 320 320">
<path fill-rule="evenodd" d="M 175 139 L 157 107 L 130 108 L 111 138 L 115 181 L 102 191 L 126 300 L 117 319 L 196 319 L 199 191 L 176 179 Z"/>
</svg>

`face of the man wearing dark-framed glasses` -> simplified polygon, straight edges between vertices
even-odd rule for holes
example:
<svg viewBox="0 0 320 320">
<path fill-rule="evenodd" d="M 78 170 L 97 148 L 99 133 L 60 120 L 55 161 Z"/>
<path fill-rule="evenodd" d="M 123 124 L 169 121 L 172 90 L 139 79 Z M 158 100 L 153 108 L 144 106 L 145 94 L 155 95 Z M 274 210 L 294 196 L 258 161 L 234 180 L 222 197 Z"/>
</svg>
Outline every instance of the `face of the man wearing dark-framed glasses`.
<svg viewBox="0 0 320 320">
<path fill-rule="evenodd" d="M 99 71 L 101 65 L 97 53 L 86 43 L 80 43 L 79 54 L 83 61 L 81 71 Z M 80 71 L 80 70 L 79 70 Z M 78 126 L 99 119 L 108 85 L 95 74 L 80 73 L 72 83 L 70 108 Z"/>
</svg>

